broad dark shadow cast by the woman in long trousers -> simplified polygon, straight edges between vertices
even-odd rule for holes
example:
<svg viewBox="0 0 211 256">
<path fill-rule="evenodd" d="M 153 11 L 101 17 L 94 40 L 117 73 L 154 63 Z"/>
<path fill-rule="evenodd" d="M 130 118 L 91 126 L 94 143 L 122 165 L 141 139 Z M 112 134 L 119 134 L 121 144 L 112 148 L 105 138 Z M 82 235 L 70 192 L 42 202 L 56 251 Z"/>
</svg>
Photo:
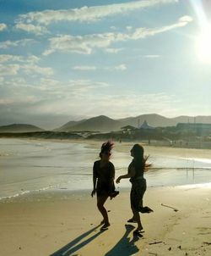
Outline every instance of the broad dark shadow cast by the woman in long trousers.
<svg viewBox="0 0 211 256">
<path fill-rule="evenodd" d="M 125 225 L 125 227 L 126 231 L 123 237 L 120 239 L 119 242 L 116 243 L 116 245 L 113 248 L 111 248 L 111 250 L 108 253 L 105 254 L 105 256 L 130 256 L 133 255 L 134 253 L 138 253 L 139 249 L 134 243 L 137 242 L 139 238 L 133 236 L 133 239 L 130 241 L 130 237 L 128 237 L 130 232 L 133 231 L 134 226 Z"/>
</svg>

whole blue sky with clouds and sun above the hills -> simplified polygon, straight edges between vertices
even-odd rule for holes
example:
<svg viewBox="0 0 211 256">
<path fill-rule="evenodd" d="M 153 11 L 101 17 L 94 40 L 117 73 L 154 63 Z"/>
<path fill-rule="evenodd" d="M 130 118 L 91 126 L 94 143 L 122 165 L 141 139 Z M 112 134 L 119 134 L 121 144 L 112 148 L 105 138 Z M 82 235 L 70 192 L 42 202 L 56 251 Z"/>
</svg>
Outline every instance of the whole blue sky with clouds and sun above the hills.
<svg viewBox="0 0 211 256">
<path fill-rule="evenodd" d="M 0 0 L 0 125 L 211 115 L 211 3 Z"/>
</svg>

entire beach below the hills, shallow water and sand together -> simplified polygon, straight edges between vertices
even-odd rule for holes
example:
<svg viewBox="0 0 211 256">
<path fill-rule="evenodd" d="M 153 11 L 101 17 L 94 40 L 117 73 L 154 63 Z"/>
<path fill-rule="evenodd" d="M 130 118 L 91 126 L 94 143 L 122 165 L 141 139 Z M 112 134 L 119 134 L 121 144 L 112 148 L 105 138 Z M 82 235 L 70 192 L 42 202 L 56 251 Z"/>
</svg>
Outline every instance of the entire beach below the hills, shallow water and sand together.
<svg viewBox="0 0 211 256">
<path fill-rule="evenodd" d="M 2 255 L 211 255 L 209 150 L 144 147 L 153 168 L 145 175 L 143 204 L 154 213 L 141 214 L 143 237 L 133 237 L 129 181 L 116 186 L 120 194 L 106 202 L 111 226 L 100 231 L 90 192 L 101 142 L 1 143 Z M 116 143 L 116 176 L 127 171 L 132 145 Z"/>
</svg>

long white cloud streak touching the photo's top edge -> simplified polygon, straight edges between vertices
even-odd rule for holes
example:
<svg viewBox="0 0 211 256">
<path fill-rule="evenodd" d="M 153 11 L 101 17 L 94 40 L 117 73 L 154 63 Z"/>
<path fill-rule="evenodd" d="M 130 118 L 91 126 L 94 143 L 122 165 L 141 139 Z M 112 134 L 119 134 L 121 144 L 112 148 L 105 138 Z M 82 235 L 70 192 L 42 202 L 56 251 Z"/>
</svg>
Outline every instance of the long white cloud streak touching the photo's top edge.
<svg viewBox="0 0 211 256">
<path fill-rule="evenodd" d="M 94 22 L 107 16 L 116 14 L 125 14 L 133 10 L 143 8 L 153 8 L 161 4 L 177 3 L 178 0 L 144 0 L 131 1 L 129 3 L 116 3 L 102 6 L 93 6 L 82 8 L 72 8 L 68 10 L 44 10 L 42 12 L 30 12 L 28 14 L 19 15 L 17 22 L 21 23 L 37 23 L 49 25 L 58 21 L 89 21 Z"/>
</svg>

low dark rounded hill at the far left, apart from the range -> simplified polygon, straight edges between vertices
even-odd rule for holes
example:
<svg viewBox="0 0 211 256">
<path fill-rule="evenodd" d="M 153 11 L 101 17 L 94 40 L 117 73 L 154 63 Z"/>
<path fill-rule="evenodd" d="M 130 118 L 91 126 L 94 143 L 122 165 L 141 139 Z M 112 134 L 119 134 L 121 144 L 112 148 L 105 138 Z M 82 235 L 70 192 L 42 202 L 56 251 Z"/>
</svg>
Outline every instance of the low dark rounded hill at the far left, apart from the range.
<svg viewBox="0 0 211 256">
<path fill-rule="evenodd" d="M 0 126 L 0 132 L 35 132 L 44 131 L 35 125 L 13 124 Z"/>
</svg>

